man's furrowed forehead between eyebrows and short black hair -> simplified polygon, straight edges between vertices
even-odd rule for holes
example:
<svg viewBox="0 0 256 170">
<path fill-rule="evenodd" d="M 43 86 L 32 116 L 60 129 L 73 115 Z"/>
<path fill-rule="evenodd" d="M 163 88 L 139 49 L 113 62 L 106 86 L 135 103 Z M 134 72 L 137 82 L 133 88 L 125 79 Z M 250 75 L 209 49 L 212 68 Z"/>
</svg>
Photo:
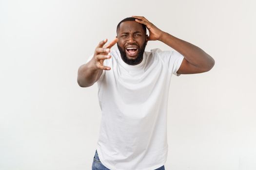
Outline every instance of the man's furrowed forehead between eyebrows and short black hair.
<svg viewBox="0 0 256 170">
<path fill-rule="evenodd" d="M 124 21 L 120 24 L 120 27 L 118 29 L 118 33 L 122 32 L 135 32 L 135 31 L 140 31 L 143 33 L 143 28 L 142 25 L 136 21 Z"/>
</svg>

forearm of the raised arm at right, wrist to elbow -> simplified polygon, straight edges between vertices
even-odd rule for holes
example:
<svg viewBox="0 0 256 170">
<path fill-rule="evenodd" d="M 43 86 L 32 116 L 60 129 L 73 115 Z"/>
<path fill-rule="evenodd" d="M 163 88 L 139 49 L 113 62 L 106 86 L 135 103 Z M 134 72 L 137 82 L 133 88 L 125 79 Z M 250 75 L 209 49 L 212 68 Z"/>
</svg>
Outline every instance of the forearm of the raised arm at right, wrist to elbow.
<svg viewBox="0 0 256 170">
<path fill-rule="evenodd" d="M 214 66 L 215 61 L 210 55 L 189 42 L 165 32 L 162 33 L 159 41 L 181 53 L 189 63 L 198 68 L 211 69 Z"/>
</svg>

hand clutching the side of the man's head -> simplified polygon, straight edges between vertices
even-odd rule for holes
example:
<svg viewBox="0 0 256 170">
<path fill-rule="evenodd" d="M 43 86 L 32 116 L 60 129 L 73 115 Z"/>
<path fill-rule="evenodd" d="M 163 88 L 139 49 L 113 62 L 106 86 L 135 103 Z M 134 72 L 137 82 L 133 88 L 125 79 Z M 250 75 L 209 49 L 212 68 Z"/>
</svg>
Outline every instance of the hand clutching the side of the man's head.
<svg viewBox="0 0 256 170">
<path fill-rule="evenodd" d="M 132 16 L 132 17 L 136 18 L 135 19 L 136 22 L 146 25 L 149 31 L 149 37 L 148 37 L 149 41 L 159 40 L 161 38 L 163 31 L 161 31 L 153 23 L 149 22 L 145 17 L 140 17 L 140 16 Z"/>
</svg>

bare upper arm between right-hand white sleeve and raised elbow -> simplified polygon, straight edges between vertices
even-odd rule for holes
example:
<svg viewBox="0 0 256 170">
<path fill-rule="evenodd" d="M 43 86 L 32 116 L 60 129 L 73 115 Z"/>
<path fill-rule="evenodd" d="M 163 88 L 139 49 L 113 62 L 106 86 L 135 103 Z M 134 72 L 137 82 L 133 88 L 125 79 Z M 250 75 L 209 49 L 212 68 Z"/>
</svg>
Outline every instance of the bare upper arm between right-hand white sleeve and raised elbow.
<svg viewBox="0 0 256 170">
<path fill-rule="evenodd" d="M 183 58 L 180 67 L 177 70 L 177 74 L 196 74 L 206 72 L 208 70 L 203 68 L 198 68 L 192 64 L 190 64 L 185 58 Z"/>
</svg>

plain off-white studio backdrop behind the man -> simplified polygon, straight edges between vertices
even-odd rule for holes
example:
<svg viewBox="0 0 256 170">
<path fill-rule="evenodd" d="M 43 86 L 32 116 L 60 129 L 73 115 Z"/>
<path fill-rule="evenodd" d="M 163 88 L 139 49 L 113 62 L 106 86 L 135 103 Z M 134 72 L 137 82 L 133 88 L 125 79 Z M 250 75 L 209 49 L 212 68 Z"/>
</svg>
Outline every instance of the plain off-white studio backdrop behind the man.
<svg viewBox="0 0 256 170">
<path fill-rule="evenodd" d="M 0 0 L 0 170 L 91 170 L 98 87 L 79 87 L 77 71 L 132 15 L 216 61 L 172 78 L 166 170 L 256 170 L 255 9 L 255 0 Z"/>
</svg>

